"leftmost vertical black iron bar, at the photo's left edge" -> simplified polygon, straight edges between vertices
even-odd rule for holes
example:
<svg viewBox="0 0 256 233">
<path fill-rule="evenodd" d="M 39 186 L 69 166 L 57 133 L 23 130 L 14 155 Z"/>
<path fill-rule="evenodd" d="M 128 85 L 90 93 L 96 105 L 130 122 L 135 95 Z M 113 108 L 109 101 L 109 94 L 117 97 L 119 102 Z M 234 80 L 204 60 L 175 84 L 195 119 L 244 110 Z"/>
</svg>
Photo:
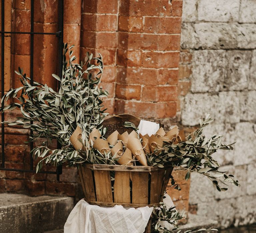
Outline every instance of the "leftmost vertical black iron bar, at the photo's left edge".
<svg viewBox="0 0 256 233">
<path fill-rule="evenodd" d="M 4 1 L 2 1 L 1 4 L 1 30 L 4 31 Z M 1 98 L 4 96 L 4 33 L 1 34 Z M 1 104 L 1 106 L 4 106 L 4 103 Z M 1 121 L 4 122 L 4 112 L 1 114 Z M 2 163 L 1 167 L 4 168 L 4 123 L 1 124 L 2 132 L 1 132 L 1 157 L 2 157 Z"/>
</svg>

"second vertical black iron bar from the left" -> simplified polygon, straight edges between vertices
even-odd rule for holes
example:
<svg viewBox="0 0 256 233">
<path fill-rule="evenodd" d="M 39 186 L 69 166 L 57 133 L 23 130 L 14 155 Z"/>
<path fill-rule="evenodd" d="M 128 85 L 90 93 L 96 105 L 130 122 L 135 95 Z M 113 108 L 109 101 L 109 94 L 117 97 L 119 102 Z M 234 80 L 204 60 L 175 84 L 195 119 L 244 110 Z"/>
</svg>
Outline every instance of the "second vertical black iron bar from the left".
<svg viewBox="0 0 256 233">
<path fill-rule="evenodd" d="M 30 32 L 34 32 L 34 0 L 31 0 L 30 11 Z M 34 34 L 30 35 L 30 84 L 34 85 L 33 70 L 34 70 Z M 33 120 L 30 120 L 30 124 L 33 124 Z M 30 129 L 30 137 L 33 135 L 33 130 Z M 30 141 L 30 170 L 33 170 L 33 142 Z"/>
</svg>

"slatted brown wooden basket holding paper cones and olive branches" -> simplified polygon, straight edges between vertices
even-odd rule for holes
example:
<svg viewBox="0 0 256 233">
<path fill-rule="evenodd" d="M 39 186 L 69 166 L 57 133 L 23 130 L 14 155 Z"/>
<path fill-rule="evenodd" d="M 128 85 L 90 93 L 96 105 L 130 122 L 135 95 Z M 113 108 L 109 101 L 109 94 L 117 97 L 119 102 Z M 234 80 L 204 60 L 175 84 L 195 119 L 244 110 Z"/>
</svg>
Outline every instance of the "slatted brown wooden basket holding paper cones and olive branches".
<svg viewBox="0 0 256 233">
<path fill-rule="evenodd" d="M 78 171 L 90 204 L 144 207 L 158 205 L 173 167 L 79 164 Z M 115 179 L 111 181 L 111 176 Z"/>
</svg>

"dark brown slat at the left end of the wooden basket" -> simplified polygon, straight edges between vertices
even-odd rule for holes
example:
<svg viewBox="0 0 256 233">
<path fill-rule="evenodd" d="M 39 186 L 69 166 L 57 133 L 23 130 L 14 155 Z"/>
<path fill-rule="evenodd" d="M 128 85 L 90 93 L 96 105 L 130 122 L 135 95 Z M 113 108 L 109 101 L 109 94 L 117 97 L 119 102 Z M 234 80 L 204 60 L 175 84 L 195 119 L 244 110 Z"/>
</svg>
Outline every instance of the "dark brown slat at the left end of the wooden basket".
<svg viewBox="0 0 256 233">
<path fill-rule="evenodd" d="M 91 201 L 96 201 L 92 170 L 89 167 L 84 166 L 80 166 L 80 168 L 84 180 L 85 194 L 87 196 L 87 199 Z"/>
</svg>

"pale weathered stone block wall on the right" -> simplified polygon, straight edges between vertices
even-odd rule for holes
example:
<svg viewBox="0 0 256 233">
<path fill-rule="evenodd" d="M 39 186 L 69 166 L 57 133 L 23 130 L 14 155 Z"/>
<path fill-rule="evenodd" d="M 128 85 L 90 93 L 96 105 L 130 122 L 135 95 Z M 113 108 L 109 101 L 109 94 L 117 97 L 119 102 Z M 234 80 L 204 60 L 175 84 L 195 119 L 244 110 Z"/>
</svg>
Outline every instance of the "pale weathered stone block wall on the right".
<svg viewBox="0 0 256 233">
<path fill-rule="evenodd" d="M 194 127 L 211 112 L 205 130 L 236 141 L 215 157 L 241 187 L 219 193 L 205 177 L 192 174 L 190 206 L 222 227 L 256 221 L 256 1 L 184 0 L 178 121 Z"/>
</svg>

